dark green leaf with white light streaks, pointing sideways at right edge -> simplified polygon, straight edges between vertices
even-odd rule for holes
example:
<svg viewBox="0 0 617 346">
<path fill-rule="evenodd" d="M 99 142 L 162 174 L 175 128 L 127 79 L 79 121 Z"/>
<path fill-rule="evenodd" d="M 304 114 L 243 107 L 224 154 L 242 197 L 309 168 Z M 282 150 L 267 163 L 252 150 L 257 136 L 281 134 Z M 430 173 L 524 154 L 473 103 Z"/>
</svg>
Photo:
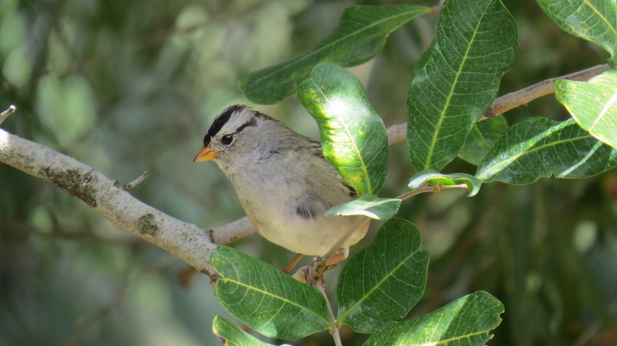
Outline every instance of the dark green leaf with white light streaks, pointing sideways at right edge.
<svg viewBox="0 0 617 346">
<path fill-rule="evenodd" d="M 598 142 L 574 119 L 528 118 L 510 126 L 478 167 L 482 182 L 526 184 L 549 177 L 585 178 L 617 165 L 617 150 Z"/>
</svg>

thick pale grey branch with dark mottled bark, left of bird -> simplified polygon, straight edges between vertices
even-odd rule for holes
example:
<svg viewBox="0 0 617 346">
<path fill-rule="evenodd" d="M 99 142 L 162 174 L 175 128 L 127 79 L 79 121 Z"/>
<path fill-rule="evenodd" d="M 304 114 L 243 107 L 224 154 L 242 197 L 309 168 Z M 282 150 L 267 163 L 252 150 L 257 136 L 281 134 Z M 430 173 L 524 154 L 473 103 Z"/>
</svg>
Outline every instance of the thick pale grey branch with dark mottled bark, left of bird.
<svg viewBox="0 0 617 346">
<path fill-rule="evenodd" d="M 118 230 L 130 231 L 146 239 L 210 278 L 216 276 L 210 264 L 210 254 L 216 247 L 212 239 L 230 241 L 228 236 L 218 233 L 230 227 L 242 226 L 245 231 L 249 228 L 247 220 L 240 219 L 224 227 L 204 231 L 139 201 L 117 181 L 93 167 L 2 129 L 0 162 L 57 185 L 104 215 Z"/>
</svg>

